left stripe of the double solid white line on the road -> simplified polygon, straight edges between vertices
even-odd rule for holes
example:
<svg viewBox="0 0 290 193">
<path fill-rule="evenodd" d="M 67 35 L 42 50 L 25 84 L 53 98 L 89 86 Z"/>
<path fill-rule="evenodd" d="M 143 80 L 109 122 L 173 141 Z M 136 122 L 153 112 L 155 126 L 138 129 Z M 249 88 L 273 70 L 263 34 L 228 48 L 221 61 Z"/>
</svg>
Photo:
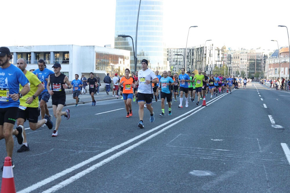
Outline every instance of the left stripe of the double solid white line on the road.
<svg viewBox="0 0 290 193">
<path fill-rule="evenodd" d="M 211 102 L 209 102 L 209 104 L 207 104 L 207 106 L 209 106 L 211 103 L 213 103 L 213 102 L 215 102 L 215 101 L 221 99 L 222 97 L 224 97 L 224 96 L 227 95 L 227 94 L 229 94 L 229 93 L 226 93 L 226 94 L 224 94 L 224 95 L 221 95 L 221 96 L 218 97 L 218 98 L 214 98 L 213 100 L 211 100 Z M 170 120 L 170 121 L 168 121 L 168 122 L 166 122 L 166 123 L 163 123 L 163 124 L 161 124 L 161 125 L 159 125 L 159 126 L 157 126 L 157 127 L 155 127 L 155 128 L 152 128 L 151 130 L 148 130 L 148 131 L 146 131 L 146 132 L 144 132 L 144 133 L 142 133 L 142 134 L 140 134 L 140 135 L 138 135 L 138 136 L 136 136 L 136 137 L 133 137 L 132 139 L 129 139 L 128 141 L 125 141 L 125 142 L 122 143 L 122 144 L 119 144 L 119 145 L 117 145 L 117 146 L 115 146 L 115 147 L 112 147 L 112 148 L 110 148 L 110 149 L 108 149 L 108 150 L 106 150 L 106 151 L 104 151 L 104 152 L 102 152 L 102 153 L 100 153 L 100 154 L 98 154 L 98 155 L 96 155 L 96 156 L 94 156 L 94 157 L 91 157 L 90 159 L 87 159 L 87 160 L 85 160 L 85 161 L 83 161 L 83 162 L 81 162 L 81 163 L 79 163 L 79 164 L 77 164 L 77 165 L 75 165 L 75 166 L 72 166 L 71 168 L 67 168 L 66 170 L 63 170 L 63 171 L 61 171 L 61 172 L 59 172 L 59 173 L 57 173 L 57 174 L 55 174 L 55 175 L 52 175 L 52 176 L 50 176 L 50 177 L 48 177 L 48 178 L 46 178 L 46 179 L 44 179 L 44 180 L 42 180 L 42 181 L 39 181 L 39 182 L 37 182 L 37 183 L 35 183 L 35 184 L 29 186 L 28 188 L 25 188 L 25 189 L 19 191 L 18 193 L 31 192 L 31 191 L 33 191 L 33 190 L 36 190 L 37 188 L 40 188 L 41 186 L 44 186 L 44 185 L 46 185 L 46 184 L 48 184 L 48 183 L 50 183 L 50 182 L 52 182 L 52 181 L 54 181 L 54 180 L 56 180 L 56 179 L 62 177 L 62 176 L 64 176 L 64 175 L 70 173 L 70 172 L 73 172 L 74 170 L 77 170 L 77 169 L 81 168 L 82 166 L 87 165 L 88 163 L 90 163 L 90 162 L 92 162 L 92 161 L 95 161 L 96 159 L 99 159 L 100 157 L 103 157 L 104 155 L 109 154 L 110 152 L 113 152 L 113 151 L 115 151 L 115 150 L 118 150 L 118 149 L 122 148 L 123 146 L 126 146 L 127 144 L 130 144 L 131 142 L 133 142 L 133 141 L 135 141 L 135 140 L 137 140 L 137 139 L 139 139 L 139 138 L 141 138 L 141 137 L 147 135 L 148 133 L 151 133 L 151 132 L 153 132 L 153 131 L 155 131 L 155 130 L 157 130 L 157 129 L 159 129 L 159 128 L 162 128 L 163 126 L 168 126 L 169 123 L 174 122 L 174 121 L 177 120 L 177 119 L 180 119 L 182 116 L 187 115 L 187 114 L 189 114 L 189 113 L 195 111 L 195 110 L 198 109 L 198 108 L 203 109 L 203 108 L 205 108 L 205 106 L 203 106 L 203 107 L 202 107 L 202 106 L 197 106 L 197 107 L 195 107 L 194 109 L 192 109 L 192 110 L 190 110 L 190 111 L 184 113 L 183 115 L 180 115 L 180 116 L 178 116 L 178 117 L 176 117 L 176 118 L 174 118 L 174 119 L 172 119 L 172 120 Z M 186 116 L 186 117 L 188 117 L 188 116 Z M 184 117 L 184 118 L 186 118 L 186 117 Z M 169 127 L 169 126 L 168 126 L 168 127 Z M 167 128 L 167 127 L 166 127 L 166 128 Z M 141 141 L 140 141 L 140 142 L 141 142 Z M 108 158 L 107 158 L 107 159 L 108 159 Z"/>
</svg>

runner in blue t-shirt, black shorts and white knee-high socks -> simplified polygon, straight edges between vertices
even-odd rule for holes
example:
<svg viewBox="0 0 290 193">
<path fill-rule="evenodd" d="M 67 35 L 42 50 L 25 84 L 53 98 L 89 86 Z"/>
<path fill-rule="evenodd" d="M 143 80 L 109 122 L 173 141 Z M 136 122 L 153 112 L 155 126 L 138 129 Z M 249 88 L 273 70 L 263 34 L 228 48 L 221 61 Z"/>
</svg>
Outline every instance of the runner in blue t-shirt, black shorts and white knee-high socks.
<svg viewBox="0 0 290 193">
<path fill-rule="evenodd" d="M 182 100 L 183 100 L 183 92 L 185 93 L 185 107 L 188 107 L 188 83 L 190 81 L 189 76 L 185 73 L 185 69 L 181 69 L 181 74 L 178 77 L 180 81 L 180 104 L 178 105 L 179 108 L 182 108 Z"/>
</svg>

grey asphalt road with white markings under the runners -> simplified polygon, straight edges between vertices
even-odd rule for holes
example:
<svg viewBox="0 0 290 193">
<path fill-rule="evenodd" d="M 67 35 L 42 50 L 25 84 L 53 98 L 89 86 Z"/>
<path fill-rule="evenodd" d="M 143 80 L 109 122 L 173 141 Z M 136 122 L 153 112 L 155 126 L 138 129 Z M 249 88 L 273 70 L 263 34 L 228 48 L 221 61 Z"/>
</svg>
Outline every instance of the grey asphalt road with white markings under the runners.
<svg viewBox="0 0 290 193">
<path fill-rule="evenodd" d="M 144 129 L 135 103 L 130 118 L 122 100 L 68 106 L 58 137 L 47 127 L 27 129 L 30 151 L 23 153 L 14 140 L 16 190 L 289 192 L 290 93 L 251 83 L 209 98 L 205 107 L 185 108 L 184 100 L 182 109 L 178 98 L 164 117 L 153 102 L 155 121 L 145 109 Z"/>
</svg>

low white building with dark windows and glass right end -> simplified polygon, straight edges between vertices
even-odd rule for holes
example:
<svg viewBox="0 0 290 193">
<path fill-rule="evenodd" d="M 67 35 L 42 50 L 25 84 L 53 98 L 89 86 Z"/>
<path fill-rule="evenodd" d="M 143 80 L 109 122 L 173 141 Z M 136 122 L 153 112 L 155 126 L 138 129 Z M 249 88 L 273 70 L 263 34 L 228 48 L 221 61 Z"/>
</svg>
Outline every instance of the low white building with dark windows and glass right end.
<svg viewBox="0 0 290 193">
<path fill-rule="evenodd" d="M 80 45 L 32 45 L 8 46 L 13 55 L 10 63 L 16 65 L 19 58 L 27 63 L 27 70 L 37 69 L 39 59 L 44 59 L 47 68 L 51 69 L 54 63 L 61 64 L 61 73 L 68 76 L 69 80 L 75 74 L 98 73 L 101 80 L 109 73 L 124 75 L 125 69 L 130 68 L 130 51 L 99 46 Z"/>
</svg>

